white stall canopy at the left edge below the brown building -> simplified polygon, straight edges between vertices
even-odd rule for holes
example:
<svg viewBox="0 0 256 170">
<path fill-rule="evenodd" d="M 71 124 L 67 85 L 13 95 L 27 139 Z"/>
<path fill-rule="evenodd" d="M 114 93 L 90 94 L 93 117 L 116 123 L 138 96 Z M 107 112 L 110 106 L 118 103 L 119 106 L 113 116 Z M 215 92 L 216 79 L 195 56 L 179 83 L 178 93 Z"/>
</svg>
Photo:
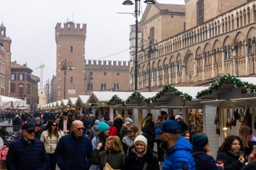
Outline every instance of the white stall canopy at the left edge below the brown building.
<svg viewBox="0 0 256 170">
<path fill-rule="evenodd" d="M 26 102 L 19 98 L 0 96 L 0 109 L 24 107 L 25 105 L 26 105 Z"/>
</svg>

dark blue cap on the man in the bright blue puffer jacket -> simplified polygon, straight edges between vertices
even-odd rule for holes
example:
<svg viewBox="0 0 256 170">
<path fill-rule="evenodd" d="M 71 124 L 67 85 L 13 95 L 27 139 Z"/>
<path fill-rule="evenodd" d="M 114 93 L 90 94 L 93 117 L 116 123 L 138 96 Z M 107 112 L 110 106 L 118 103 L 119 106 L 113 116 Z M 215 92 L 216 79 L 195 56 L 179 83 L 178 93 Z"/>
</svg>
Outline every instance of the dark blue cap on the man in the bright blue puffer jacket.
<svg viewBox="0 0 256 170">
<path fill-rule="evenodd" d="M 181 127 L 179 123 L 173 121 L 173 120 L 166 120 L 162 124 L 161 129 L 159 130 L 159 133 L 161 132 L 167 132 L 169 134 L 180 134 L 181 133 Z"/>
</svg>

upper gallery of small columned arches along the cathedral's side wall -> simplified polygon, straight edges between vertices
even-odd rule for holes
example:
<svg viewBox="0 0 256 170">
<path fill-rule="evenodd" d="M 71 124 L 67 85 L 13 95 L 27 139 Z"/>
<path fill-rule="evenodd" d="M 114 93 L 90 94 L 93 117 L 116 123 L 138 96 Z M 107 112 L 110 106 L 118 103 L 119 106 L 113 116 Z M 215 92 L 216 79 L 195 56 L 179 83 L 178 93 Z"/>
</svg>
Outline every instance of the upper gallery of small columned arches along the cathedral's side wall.
<svg viewBox="0 0 256 170">
<path fill-rule="evenodd" d="M 251 5 L 251 6 L 250 6 Z M 221 15 L 216 19 L 212 19 L 209 22 L 190 29 L 174 38 L 170 38 L 161 42 L 157 45 L 157 51 L 152 52 L 151 58 L 157 58 L 169 54 L 170 52 L 175 52 L 182 48 L 188 47 L 195 43 L 203 42 L 214 36 L 228 33 L 239 27 L 246 26 L 256 21 L 256 10 L 255 4 L 248 4 L 248 6 L 243 6 L 240 9 L 228 12 L 225 15 Z M 225 45 L 222 46 L 222 49 Z M 141 52 L 138 54 L 139 63 L 147 61 L 147 54 Z"/>
</svg>

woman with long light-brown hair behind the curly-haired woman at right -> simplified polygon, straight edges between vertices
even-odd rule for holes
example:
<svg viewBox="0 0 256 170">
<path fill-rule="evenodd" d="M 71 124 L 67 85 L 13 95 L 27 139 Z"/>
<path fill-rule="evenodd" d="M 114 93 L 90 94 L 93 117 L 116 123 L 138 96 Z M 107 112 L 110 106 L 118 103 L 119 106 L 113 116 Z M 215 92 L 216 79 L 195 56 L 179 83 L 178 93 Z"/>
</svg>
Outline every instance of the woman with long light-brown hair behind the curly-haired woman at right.
<svg viewBox="0 0 256 170">
<path fill-rule="evenodd" d="M 244 155 L 246 156 L 246 159 L 248 159 L 248 156 L 250 153 L 252 153 L 252 150 L 256 144 L 255 141 L 252 141 L 252 128 L 243 125 L 239 128 L 239 137 L 243 142 L 244 146 Z"/>
</svg>

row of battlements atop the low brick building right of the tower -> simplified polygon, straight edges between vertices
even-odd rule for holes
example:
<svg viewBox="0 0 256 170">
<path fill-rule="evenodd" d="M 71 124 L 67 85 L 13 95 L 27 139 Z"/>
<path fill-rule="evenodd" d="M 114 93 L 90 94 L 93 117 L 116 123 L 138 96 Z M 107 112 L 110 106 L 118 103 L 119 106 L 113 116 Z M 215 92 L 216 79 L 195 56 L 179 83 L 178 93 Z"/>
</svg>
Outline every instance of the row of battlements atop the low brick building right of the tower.
<svg viewBox="0 0 256 170">
<path fill-rule="evenodd" d="M 129 61 L 111 61 L 111 60 L 95 60 L 95 59 L 87 59 L 85 60 L 85 65 L 86 67 L 93 67 L 93 66 L 104 66 L 104 67 L 129 67 L 130 66 L 130 62 Z"/>
</svg>

